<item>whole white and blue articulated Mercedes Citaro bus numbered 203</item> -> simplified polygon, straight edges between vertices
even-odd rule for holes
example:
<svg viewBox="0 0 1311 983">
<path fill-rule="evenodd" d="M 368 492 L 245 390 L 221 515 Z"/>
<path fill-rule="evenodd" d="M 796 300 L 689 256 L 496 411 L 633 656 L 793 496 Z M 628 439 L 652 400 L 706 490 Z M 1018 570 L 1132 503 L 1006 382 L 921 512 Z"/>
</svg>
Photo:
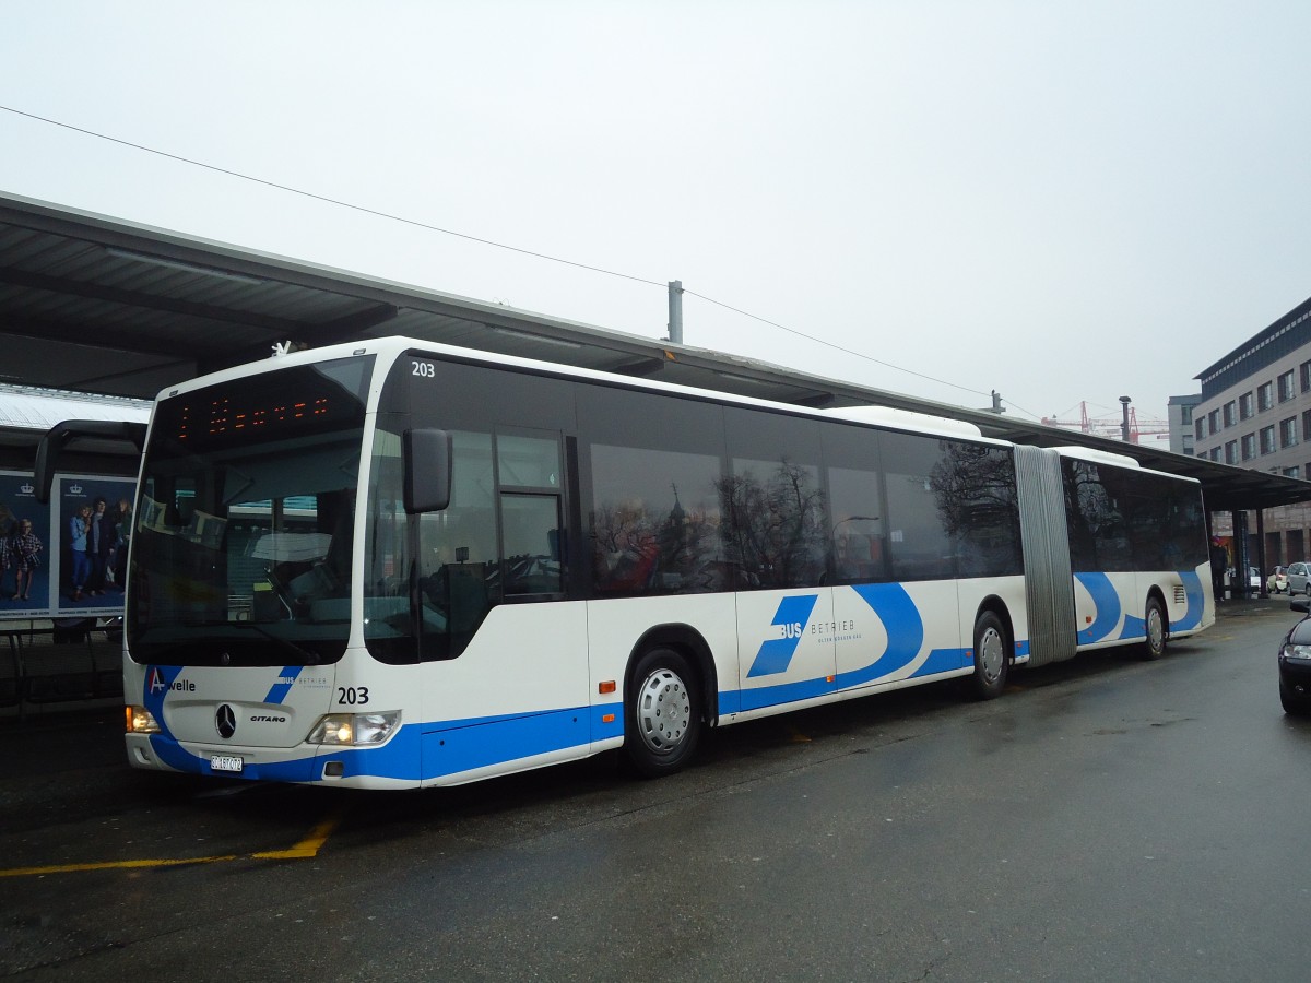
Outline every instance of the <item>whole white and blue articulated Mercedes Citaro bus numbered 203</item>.
<svg viewBox="0 0 1311 983">
<path fill-rule="evenodd" d="M 134 515 L 127 758 L 248 780 L 659 776 L 1215 616 L 1198 484 L 1129 457 L 406 338 L 166 389 Z"/>
</svg>

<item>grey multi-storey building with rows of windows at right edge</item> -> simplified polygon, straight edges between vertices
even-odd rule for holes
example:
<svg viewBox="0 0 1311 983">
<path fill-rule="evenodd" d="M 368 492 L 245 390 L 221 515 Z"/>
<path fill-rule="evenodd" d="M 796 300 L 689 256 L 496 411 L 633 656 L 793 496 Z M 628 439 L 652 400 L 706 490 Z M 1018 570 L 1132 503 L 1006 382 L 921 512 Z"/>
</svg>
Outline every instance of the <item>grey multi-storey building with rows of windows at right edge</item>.
<svg viewBox="0 0 1311 983">
<path fill-rule="evenodd" d="M 1196 377 L 1197 457 L 1311 481 L 1311 299 Z M 1262 518 L 1266 566 L 1307 558 L 1311 509 L 1282 506 Z"/>
</svg>

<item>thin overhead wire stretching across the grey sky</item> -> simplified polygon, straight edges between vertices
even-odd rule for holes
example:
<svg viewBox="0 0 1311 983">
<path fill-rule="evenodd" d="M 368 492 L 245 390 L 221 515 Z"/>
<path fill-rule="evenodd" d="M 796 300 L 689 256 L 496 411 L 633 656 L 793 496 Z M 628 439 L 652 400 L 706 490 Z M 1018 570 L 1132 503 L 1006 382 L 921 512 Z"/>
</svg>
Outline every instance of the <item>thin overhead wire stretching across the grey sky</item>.
<svg viewBox="0 0 1311 983">
<path fill-rule="evenodd" d="M 564 260 L 564 258 L 561 258 L 558 256 L 549 256 L 547 253 L 538 253 L 538 252 L 534 252 L 532 249 L 522 249 L 520 246 L 506 245 L 505 242 L 496 242 L 496 241 L 493 241 L 490 239 L 482 239 L 480 236 L 471 236 L 467 232 L 456 232 L 455 229 L 442 228 L 440 225 L 433 225 L 430 223 L 420 222 L 417 219 L 408 219 L 404 215 L 395 215 L 392 212 L 380 211 L 378 208 L 370 208 L 370 207 L 363 206 L 363 204 L 354 204 L 351 202 L 343 202 L 340 198 L 332 198 L 329 195 L 315 194 L 313 191 L 305 191 L 305 190 L 302 190 L 299 187 L 294 187 L 291 185 L 283 185 L 283 183 L 279 183 L 277 181 L 269 181 L 269 180 L 262 178 L 262 177 L 254 177 L 253 174 L 244 174 L 240 170 L 231 170 L 228 168 L 220 168 L 220 166 L 218 166 L 215 164 L 206 164 L 202 160 L 195 160 L 193 157 L 184 157 L 184 156 L 181 156 L 178 153 L 170 153 L 168 151 L 156 149 L 155 147 L 147 147 L 147 145 L 140 144 L 140 143 L 132 143 L 131 140 L 123 140 L 123 139 L 121 139 L 118 136 L 110 136 L 108 134 L 97 132 L 94 130 L 87 130 L 85 127 L 73 126 L 72 123 L 64 123 L 64 122 L 60 122 L 58 119 L 50 119 L 49 117 L 37 115 L 35 113 L 28 113 L 28 111 L 21 110 L 21 109 L 14 109 L 13 106 L 0 105 L 0 109 L 3 109 L 7 113 L 13 113 L 14 115 L 25 117 L 28 119 L 34 119 L 34 121 L 37 121 L 39 123 L 47 123 L 49 126 L 58 126 L 58 127 L 62 127 L 64 130 L 69 130 L 72 132 L 83 134 L 84 136 L 94 136 L 98 140 L 106 140 L 109 143 L 117 143 L 121 147 L 128 147 L 128 148 L 131 148 L 134 151 L 142 151 L 144 153 L 153 153 L 157 157 L 165 157 L 168 160 L 173 160 L 173 161 L 177 161 L 180 164 L 190 164 L 191 166 L 195 166 L 195 168 L 202 168 L 205 170 L 212 170 L 216 174 L 225 174 L 227 177 L 235 177 L 235 178 L 239 178 L 241 181 L 250 181 L 250 182 L 257 183 L 257 185 L 264 185 L 265 187 L 273 187 L 273 189 L 277 189 L 279 191 L 287 191 L 290 194 L 296 194 L 296 195 L 300 195 L 303 198 L 309 198 L 309 199 L 316 201 L 316 202 L 324 202 L 326 204 L 336 204 L 340 208 L 349 208 L 351 211 L 358 211 L 358 212 L 364 214 L 364 215 L 372 215 L 372 216 L 379 218 L 379 219 L 388 219 L 391 222 L 399 222 L 399 223 L 405 224 L 405 225 L 413 225 L 414 228 L 427 229 L 429 232 L 440 232 L 442 235 L 446 235 L 446 236 L 455 236 L 456 239 L 463 239 L 463 240 L 467 240 L 469 242 L 479 242 L 481 245 L 496 246 L 497 249 L 506 249 L 506 250 L 509 250 L 511 253 L 519 253 L 520 256 L 531 256 L 531 257 L 534 257 L 536 260 L 547 260 L 549 262 L 562 263 L 565 266 L 573 266 L 573 267 L 579 269 L 579 270 L 590 270 L 591 273 L 602 273 L 602 274 L 606 274 L 607 277 L 617 277 L 620 279 L 633 280 L 635 283 L 645 283 L 645 284 L 652 286 L 652 287 L 659 287 L 661 290 L 667 288 L 667 284 L 659 283 L 658 280 L 646 279 L 645 277 L 635 277 L 635 275 L 628 274 L 628 273 L 619 273 L 616 270 L 607 270 L 607 269 L 600 267 L 600 266 L 593 266 L 591 263 L 577 262 L 574 260 Z M 777 328 L 780 332 L 787 332 L 788 334 L 794 334 L 798 338 L 805 338 L 806 341 L 815 342 L 817 345 L 825 345 L 825 346 L 827 346 L 830 349 L 834 349 L 835 351 L 842 351 L 842 353 L 844 353 L 847 355 L 852 355 L 855 358 L 864 359 L 867 362 L 873 362 L 874 364 L 884 366 L 885 368 L 893 368 L 893 370 L 895 370 L 898 372 L 905 372 L 907 375 L 912 375 L 912 376 L 916 376 L 919 379 L 924 379 L 924 380 L 931 381 L 931 383 L 937 383 L 939 385 L 949 385 L 953 389 L 960 389 L 962 392 L 974 393 L 975 396 L 991 396 L 991 393 L 986 393 L 986 392 L 982 392 L 979 389 L 971 389 L 971 388 L 969 388 L 966 385 L 958 385 L 956 383 L 949 383 L 945 379 L 937 379 L 937 377 L 931 376 L 931 375 L 924 375 L 923 372 L 916 372 L 916 371 L 914 371 L 911 368 L 903 368 L 902 366 L 893 364 L 891 362 L 884 362 L 882 359 L 877 359 L 873 355 L 867 355 L 863 351 L 856 351 L 855 349 L 843 347 L 842 345 L 836 345 L 836 343 L 834 343 L 831 341 L 826 341 L 825 338 L 818 338 L 818 337 L 815 337 L 813 334 L 806 334 L 805 332 L 798 332 L 794 328 L 788 328 L 787 325 L 779 324 L 777 321 L 771 321 L 767 317 L 760 317 L 759 315 L 753 315 L 749 311 L 742 311 L 741 308 L 733 307 L 732 304 L 725 304 L 724 301 L 716 300 L 714 298 L 707 296 L 704 294 L 697 294 L 694 290 L 684 288 L 683 292 L 684 294 L 691 294 L 694 298 L 704 300 L 708 304 L 714 304 L 716 307 L 722 307 L 725 311 L 732 311 L 733 313 L 741 315 L 742 317 L 750 317 L 751 320 L 759 321 L 760 324 L 767 324 L 771 328 Z M 1011 405 L 1015 406 L 1013 402 Z M 1025 410 L 1025 409 L 1023 409 L 1020 406 L 1015 406 L 1015 408 L 1019 409 L 1019 410 L 1021 410 L 1023 413 L 1028 413 L 1028 410 Z M 1030 413 L 1029 415 L 1034 415 L 1034 414 Z M 1037 417 L 1034 417 L 1034 418 L 1037 418 Z"/>
</svg>

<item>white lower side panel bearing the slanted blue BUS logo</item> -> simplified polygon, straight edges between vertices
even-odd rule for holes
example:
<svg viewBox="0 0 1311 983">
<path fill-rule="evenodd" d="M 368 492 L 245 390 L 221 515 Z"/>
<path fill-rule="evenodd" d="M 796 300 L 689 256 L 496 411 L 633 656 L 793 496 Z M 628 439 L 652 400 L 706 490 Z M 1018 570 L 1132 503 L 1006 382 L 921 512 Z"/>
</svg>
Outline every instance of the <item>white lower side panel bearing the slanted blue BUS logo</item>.
<svg viewBox="0 0 1311 983">
<path fill-rule="evenodd" d="M 834 691 L 832 591 L 739 591 L 742 709 L 797 703 Z"/>
</svg>

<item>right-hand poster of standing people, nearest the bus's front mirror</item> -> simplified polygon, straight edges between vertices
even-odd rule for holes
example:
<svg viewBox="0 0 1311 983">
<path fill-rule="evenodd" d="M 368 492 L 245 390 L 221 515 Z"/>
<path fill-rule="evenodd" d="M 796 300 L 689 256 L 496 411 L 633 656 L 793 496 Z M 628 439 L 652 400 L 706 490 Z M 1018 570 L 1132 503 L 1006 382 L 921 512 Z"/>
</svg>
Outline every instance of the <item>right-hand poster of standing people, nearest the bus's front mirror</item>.
<svg viewBox="0 0 1311 983">
<path fill-rule="evenodd" d="M 50 537 L 55 617 L 123 612 L 135 486 L 131 478 L 56 476 L 50 495 L 55 506 Z"/>
</svg>

